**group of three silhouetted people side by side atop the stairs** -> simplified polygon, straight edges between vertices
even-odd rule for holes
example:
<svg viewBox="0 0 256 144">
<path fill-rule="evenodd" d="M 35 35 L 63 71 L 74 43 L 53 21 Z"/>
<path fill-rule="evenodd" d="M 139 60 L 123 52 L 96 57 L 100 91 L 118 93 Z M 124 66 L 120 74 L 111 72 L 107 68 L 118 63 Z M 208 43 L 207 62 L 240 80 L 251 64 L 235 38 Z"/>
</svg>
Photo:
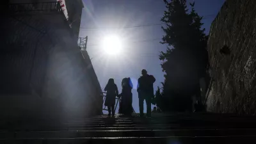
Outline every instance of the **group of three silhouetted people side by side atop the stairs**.
<svg viewBox="0 0 256 144">
<path fill-rule="evenodd" d="M 147 116 L 151 116 L 151 102 L 154 98 L 153 83 L 155 77 L 147 74 L 147 70 L 141 70 L 142 76 L 138 79 L 137 92 L 139 96 L 140 116 L 143 116 L 143 103 L 147 103 Z M 114 79 L 109 79 L 108 84 L 104 88 L 107 91 L 105 106 L 108 106 L 109 115 L 115 115 L 115 98 L 120 97 L 120 106 L 118 113 L 124 115 L 132 114 L 132 81 L 130 77 L 122 80 L 122 93 L 118 94 L 118 88 Z"/>
</svg>

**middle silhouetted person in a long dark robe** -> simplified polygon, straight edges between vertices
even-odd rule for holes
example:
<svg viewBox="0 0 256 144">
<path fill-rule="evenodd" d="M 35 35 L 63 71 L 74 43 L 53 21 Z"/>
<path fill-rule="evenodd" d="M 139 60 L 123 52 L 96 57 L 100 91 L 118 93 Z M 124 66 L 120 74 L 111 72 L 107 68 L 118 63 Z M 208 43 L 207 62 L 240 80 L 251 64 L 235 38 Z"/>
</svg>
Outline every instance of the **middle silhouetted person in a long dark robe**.
<svg viewBox="0 0 256 144">
<path fill-rule="evenodd" d="M 132 113 L 132 82 L 130 77 L 122 80 L 122 93 L 119 113 L 131 115 Z"/>
</svg>

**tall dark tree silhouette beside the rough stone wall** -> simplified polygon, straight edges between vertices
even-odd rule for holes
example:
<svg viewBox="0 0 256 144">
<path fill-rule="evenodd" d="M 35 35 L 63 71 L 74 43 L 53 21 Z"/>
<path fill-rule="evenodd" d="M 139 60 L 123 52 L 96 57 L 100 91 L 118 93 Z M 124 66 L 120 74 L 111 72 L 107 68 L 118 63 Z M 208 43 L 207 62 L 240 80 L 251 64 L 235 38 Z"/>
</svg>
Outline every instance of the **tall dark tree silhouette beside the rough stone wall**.
<svg viewBox="0 0 256 144">
<path fill-rule="evenodd" d="M 200 93 L 199 78 L 205 76 L 208 64 L 207 35 L 202 29 L 202 17 L 195 12 L 195 3 L 186 6 L 186 0 L 164 0 L 166 10 L 161 21 L 164 36 L 161 44 L 167 44 L 161 52 L 163 61 L 163 92 L 158 95 L 162 111 L 191 110 L 191 95 Z M 158 92 L 157 92 L 158 93 Z M 158 98 L 156 98 L 158 99 Z"/>
</svg>

